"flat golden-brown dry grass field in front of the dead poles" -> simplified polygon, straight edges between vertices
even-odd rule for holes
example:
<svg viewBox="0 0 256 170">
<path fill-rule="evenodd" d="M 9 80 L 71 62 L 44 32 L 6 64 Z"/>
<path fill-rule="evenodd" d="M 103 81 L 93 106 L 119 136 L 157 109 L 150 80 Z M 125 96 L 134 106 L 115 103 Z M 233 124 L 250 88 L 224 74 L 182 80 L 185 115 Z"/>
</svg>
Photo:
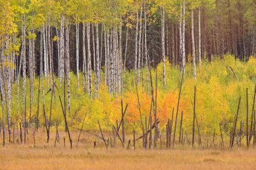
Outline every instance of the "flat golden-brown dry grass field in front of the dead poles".
<svg viewBox="0 0 256 170">
<path fill-rule="evenodd" d="M 75 140 L 77 134 L 72 134 Z M 53 134 L 46 144 L 46 135 L 42 132 L 35 136 L 35 148 L 31 134 L 26 144 L 0 146 L 0 169 L 256 169 L 256 149 L 253 146 L 249 150 L 233 148 L 232 151 L 226 148 L 193 149 L 191 146 L 147 151 L 137 148 L 133 151 L 121 148 L 120 143 L 119 148 L 106 149 L 99 140 L 93 148 L 95 138 L 86 138 L 82 134 L 79 145 L 76 146 L 75 140 L 71 149 L 67 139 L 63 146 L 63 135 L 60 135 L 62 140 L 56 147 Z"/>
</svg>

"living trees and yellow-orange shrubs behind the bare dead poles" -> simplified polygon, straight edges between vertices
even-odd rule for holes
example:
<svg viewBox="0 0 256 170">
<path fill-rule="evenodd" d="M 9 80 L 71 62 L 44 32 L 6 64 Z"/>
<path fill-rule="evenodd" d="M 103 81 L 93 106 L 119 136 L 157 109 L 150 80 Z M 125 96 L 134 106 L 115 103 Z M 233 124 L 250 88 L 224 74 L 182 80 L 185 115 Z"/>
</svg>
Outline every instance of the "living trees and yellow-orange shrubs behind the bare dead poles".
<svg viewBox="0 0 256 170">
<path fill-rule="evenodd" d="M 63 123 L 58 95 L 71 124 L 85 113 L 90 128 L 115 124 L 123 99 L 137 125 L 157 88 L 152 110 L 164 122 L 184 71 L 180 110 L 191 118 L 196 84 L 199 122 L 212 132 L 247 87 L 253 97 L 255 16 L 255 0 L 0 0 L 3 126 Z"/>
</svg>

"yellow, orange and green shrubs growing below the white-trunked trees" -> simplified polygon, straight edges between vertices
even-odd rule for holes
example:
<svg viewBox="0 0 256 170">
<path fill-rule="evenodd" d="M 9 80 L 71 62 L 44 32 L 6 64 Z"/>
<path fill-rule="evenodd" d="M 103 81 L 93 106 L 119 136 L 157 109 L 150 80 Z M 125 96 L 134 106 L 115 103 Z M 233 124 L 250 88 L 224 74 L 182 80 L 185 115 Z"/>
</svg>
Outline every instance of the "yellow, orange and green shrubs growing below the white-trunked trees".
<svg viewBox="0 0 256 170">
<path fill-rule="evenodd" d="M 181 83 L 182 71 L 179 68 L 170 65 L 166 61 L 166 85 L 162 81 L 162 63 L 156 69 L 151 70 L 152 85 L 154 93 L 156 92 L 156 70 L 157 82 L 157 118 L 160 121 L 160 129 L 164 130 L 164 124 L 168 118 L 172 117 L 172 109 L 174 113 L 177 111 L 177 101 L 179 95 L 179 85 Z M 238 114 L 238 121 L 246 122 L 246 89 L 249 93 L 249 115 L 252 113 L 253 95 L 256 84 L 256 59 L 251 57 L 247 62 L 236 60 L 234 56 L 226 55 L 222 59 L 216 57 L 212 62 L 203 60 L 201 66 L 197 67 L 197 79 L 193 77 L 193 65 L 187 63 L 185 66 L 185 77 L 183 87 L 181 89 L 181 101 L 179 106 L 180 121 L 181 112 L 183 111 L 183 127 L 188 134 L 191 134 L 193 124 L 193 97 L 194 88 L 197 88 L 196 109 L 198 124 L 202 134 L 220 133 L 219 124 L 221 123 L 224 130 L 228 131 L 232 126 L 234 115 L 236 114 L 238 98 L 241 96 L 241 107 Z M 150 115 L 150 106 L 152 101 L 151 83 L 146 81 L 146 71 L 141 70 L 141 80 L 137 84 L 139 103 L 141 106 L 141 116 L 144 120 L 145 116 Z M 71 75 L 71 111 L 67 113 L 67 122 L 69 126 L 80 127 L 86 115 L 84 129 L 98 130 L 98 121 L 104 130 L 111 130 L 112 125 L 116 124 L 116 120 L 121 118 L 121 100 L 124 105 L 127 104 L 127 112 L 125 114 L 125 130 L 132 132 L 133 129 L 141 128 L 137 93 L 134 81 L 134 71 L 125 72 L 125 90 L 121 95 L 108 93 L 108 88 L 104 85 L 104 77 L 102 75 L 102 83 L 98 91 L 99 97 L 90 99 L 86 90 L 80 86 L 77 89 L 76 75 Z M 82 75 L 82 73 L 81 73 Z M 148 75 L 150 77 L 150 75 Z M 94 79 L 94 77 L 93 77 Z M 22 80 L 20 80 L 22 81 Z M 44 79 L 45 93 L 45 110 L 46 116 L 49 118 L 51 110 L 51 80 Z M 57 90 L 53 95 L 53 107 L 51 116 L 51 126 L 59 125 L 59 128 L 65 129 L 65 121 L 59 95 L 63 98 L 63 87 L 58 84 L 55 78 Z M 150 78 L 149 78 L 150 81 Z M 82 80 L 81 80 L 82 84 Z M 34 80 L 34 101 L 30 108 L 29 96 L 26 96 L 27 122 L 31 122 L 30 126 L 36 126 L 36 116 L 39 116 L 40 126 L 44 126 L 44 114 L 42 102 L 39 102 L 38 113 L 38 77 Z M 20 82 L 20 89 L 22 83 Z M 27 82 L 26 90 L 29 91 L 29 82 Z M 94 89 L 94 87 L 92 87 Z M 40 91 L 42 93 L 42 91 Z M 13 124 L 19 124 L 24 120 L 22 113 L 22 93 L 19 100 L 17 97 L 17 83 L 13 84 L 12 91 L 12 108 L 11 121 Z M 41 94 L 39 100 L 42 100 Z M 153 111 L 152 111 L 153 112 Z M 175 118 L 175 114 L 174 114 Z M 30 120 L 31 119 L 31 120 Z M 245 127 L 245 126 L 244 126 Z"/>
</svg>

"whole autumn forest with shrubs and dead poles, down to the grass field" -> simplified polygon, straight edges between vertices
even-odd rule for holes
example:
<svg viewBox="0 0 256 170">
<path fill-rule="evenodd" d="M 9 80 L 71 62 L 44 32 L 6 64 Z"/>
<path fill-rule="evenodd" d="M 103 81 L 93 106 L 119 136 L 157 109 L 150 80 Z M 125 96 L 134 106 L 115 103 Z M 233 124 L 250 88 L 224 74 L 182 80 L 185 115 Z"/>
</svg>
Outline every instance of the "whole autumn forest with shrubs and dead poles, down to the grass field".
<svg viewBox="0 0 256 170">
<path fill-rule="evenodd" d="M 249 148 L 255 56 L 255 0 L 0 0 L 0 141 Z"/>
</svg>

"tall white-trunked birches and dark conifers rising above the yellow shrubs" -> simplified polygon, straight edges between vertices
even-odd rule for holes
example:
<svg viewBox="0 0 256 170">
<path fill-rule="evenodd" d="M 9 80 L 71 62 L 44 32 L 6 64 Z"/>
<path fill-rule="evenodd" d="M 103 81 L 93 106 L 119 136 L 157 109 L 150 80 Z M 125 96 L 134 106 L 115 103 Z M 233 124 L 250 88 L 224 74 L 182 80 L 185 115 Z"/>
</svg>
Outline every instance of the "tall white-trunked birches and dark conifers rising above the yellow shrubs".
<svg viewBox="0 0 256 170">
<path fill-rule="evenodd" d="M 166 62 L 184 71 L 192 62 L 196 79 L 201 60 L 227 53 L 247 60 L 255 54 L 255 0 L 0 0 L 0 5 L 0 86 L 8 129 L 11 99 L 20 101 L 22 82 L 26 120 L 26 95 L 31 106 L 36 77 L 43 103 L 44 79 L 52 90 L 56 81 L 67 85 L 70 110 L 70 71 L 77 75 L 77 88 L 98 97 L 101 83 L 109 93 L 123 93 L 127 70 L 149 90 L 150 69 L 160 62 L 165 84 Z M 5 120 L 3 107 L 2 112 Z"/>
</svg>

